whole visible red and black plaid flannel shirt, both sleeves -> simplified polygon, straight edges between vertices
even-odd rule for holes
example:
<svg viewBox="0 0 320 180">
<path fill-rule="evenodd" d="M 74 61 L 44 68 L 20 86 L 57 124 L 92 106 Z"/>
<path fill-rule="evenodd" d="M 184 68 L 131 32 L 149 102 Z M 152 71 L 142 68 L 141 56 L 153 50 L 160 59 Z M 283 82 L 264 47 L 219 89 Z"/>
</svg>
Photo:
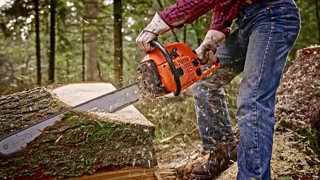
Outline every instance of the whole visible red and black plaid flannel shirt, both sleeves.
<svg viewBox="0 0 320 180">
<path fill-rule="evenodd" d="M 218 30 L 228 36 L 233 20 L 241 12 L 244 5 L 261 1 L 263 0 L 176 0 L 175 4 L 160 12 L 159 16 L 171 29 L 182 28 L 184 24 L 192 23 L 212 10 L 212 22 L 209 29 Z M 183 19 L 186 20 L 183 24 L 171 24 Z"/>
</svg>

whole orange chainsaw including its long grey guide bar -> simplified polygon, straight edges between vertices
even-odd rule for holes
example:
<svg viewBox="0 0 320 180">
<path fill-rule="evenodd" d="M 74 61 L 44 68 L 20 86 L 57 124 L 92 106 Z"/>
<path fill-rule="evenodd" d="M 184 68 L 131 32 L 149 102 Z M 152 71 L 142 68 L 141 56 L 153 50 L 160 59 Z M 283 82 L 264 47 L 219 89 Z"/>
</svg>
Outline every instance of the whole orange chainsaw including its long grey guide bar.
<svg viewBox="0 0 320 180">
<path fill-rule="evenodd" d="M 182 42 L 162 46 L 159 42 L 152 40 L 150 44 L 156 48 L 150 50 L 138 65 L 140 77 L 135 83 L 105 93 L 2 136 L 0 138 L 0 157 L 10 157 L 23 150 L 28 142 L 42 133 L 39 129 L 44 129 L 60 120 L 60 117 L 68 110 L 86 111 L 95 108 L 105 113 L 112 113 L 147 96 L 159 97 L 172 92 L 177 96 L 181 90 L 220 67 L 217 59 L 211 68 L 202 71 L 195 51 Z"/>
</svg>

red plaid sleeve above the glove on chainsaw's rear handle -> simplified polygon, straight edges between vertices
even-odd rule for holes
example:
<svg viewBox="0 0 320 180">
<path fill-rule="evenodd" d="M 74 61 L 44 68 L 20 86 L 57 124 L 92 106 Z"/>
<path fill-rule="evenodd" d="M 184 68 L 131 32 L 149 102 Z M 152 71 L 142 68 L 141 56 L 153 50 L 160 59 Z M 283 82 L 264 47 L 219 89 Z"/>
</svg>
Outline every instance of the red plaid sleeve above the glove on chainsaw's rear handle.
<svg viewBox="0 0 320 180">
<path fill-rule="evenodd" d="M 212 23 L 209 29 L 218 30 L 227 37 L 231 31 L 232 22 L 232 19 L 227 19 L 226 14 L 219 12 L 217 8 L 214 7 L 212 9 Z"/>
</svg>

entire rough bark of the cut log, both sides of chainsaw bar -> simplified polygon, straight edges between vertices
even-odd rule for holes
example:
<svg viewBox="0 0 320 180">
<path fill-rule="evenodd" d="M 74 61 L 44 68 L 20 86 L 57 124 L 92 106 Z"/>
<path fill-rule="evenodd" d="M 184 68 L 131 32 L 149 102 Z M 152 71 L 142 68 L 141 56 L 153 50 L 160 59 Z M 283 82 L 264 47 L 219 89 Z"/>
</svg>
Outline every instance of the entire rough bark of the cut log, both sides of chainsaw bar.
<svg viewBox="0 0 320 180">
<path fill-rule="evenodd" d="M 3 103 L 4 100 L 10 103 Z M 2 135 L 58 112 L 63 108 L 61 104 L 43 88 L 1 97 L 1 109 L 14 107 L 11 114 L 16 115 L 1 112 L 0 118 L 6 119 L 0 121 L 1 129 L 6 127 Z M 36 110 L 27 110 L 30 107 Z M 16 122 L 16 126 L 9 129 L 7 122 Z M 152 167 L 157 164 L 153 135 L 153 126 L 119 123 L 95 113 L 68 111 L 61 120 L 43 129 L 25 150 L 10 158 L 0 158 L 0 177 L 61 179 L 114 166 Z"/>
</svg>

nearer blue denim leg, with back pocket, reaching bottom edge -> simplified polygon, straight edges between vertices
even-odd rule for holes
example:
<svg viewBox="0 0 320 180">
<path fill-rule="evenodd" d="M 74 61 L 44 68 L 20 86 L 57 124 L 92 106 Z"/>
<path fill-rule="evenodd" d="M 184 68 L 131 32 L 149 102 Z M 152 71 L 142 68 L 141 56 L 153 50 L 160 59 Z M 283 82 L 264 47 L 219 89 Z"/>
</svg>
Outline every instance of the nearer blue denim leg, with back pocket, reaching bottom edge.
<svg viewBox="0 0 320 180">
<path fill-rule="evenodd" d="M 237 179 L 270 179 L 275 94 L 300 18 L 293 0 L 266 0 L 244 11 L 238 23 L 249 43 L 237 99 Z"/>
</svg>

